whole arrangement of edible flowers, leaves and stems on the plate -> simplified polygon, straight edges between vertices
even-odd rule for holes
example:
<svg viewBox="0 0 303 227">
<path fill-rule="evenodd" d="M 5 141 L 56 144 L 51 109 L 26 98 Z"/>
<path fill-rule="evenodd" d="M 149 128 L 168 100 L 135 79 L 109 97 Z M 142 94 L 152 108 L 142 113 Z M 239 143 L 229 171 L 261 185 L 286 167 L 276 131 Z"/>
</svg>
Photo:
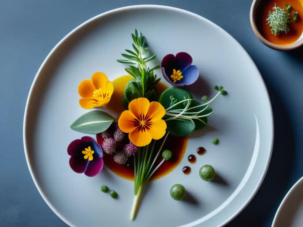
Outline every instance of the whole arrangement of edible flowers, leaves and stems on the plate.
<svg viewBox="0 0 303 227">
<path fill-rule="evenodd" d="M 84 109 L 93 110 L 76 119 L 71 129 L 97 135 L 101 139 L 98 140 L 97 137 L 98 142 L 88 136 L 75 139 L 69 144 L 67 152 L 71 156 L 71 169 L 88 177 L 96 176 L 102 171 L 103 157 L 106 155 L 112 155 L 113 160 L 121 165 L 125 165 L 128 159 L 134 159 L 135 199 L 130 215 L 130 219 L 134 220 L 142 189 L 155 171 L 173 155 L 173 151 L 163 149 L 168 135 L 182 137 L 205 127 L 207 117 L 212 113 L 209 104 L 227 92 L 222 86 L 215 86 L 218 91 L 215 97 L 200 103 L 182 88 L 195 83 L 199 77 L 199 69 L 192 64 L 190 54 L 168 54 L 163 58 L 161 66 L 149 68 L 148 62 L 155 60 L 156 53 L 149 54 L 146 39 L 138 30 L 132 34 L 132 40 L 133 51 L 125 50 L 127 54 L 122 54 L 125 59 L 117 60 L 128 65 L 125 71 L 131 76 L 121 100 L 125 110 L 120 116 L 111 116 L 104 111 L 115 93 L 114 85 L 108 81 L 106 74 L 96 72 L 91 79 L 80 82 L 79 104 Z M 172 85 L 161 95 L 156 88 L 160 78 L 154 73 L 160 67 L 164 79 Z M 206 96 L 202 98 L 206 99 Z M 156 165 L 158 158 L 161 161 Z M 210 173 L 206 170 L 205 173 Z M 206 178 L 209 180 L 212 177 Z M 183 188 L 184 186 L 175 185 L 171 189 L 171 195 Z M 101 190 L 107 192 L 108 187 L 102 186 Z M 183 194 L 185 191 L 182 198 Z M 111 195 L 117 197 L 114 191 Z"/>
</svg>

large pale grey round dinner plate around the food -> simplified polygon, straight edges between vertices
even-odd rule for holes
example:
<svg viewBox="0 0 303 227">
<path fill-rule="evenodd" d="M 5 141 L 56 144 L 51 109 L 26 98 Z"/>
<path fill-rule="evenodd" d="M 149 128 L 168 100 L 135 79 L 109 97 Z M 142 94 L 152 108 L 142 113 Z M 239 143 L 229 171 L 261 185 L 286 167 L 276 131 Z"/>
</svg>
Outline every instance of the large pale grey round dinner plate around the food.
<svg viewBox="0 0 303 227">
<path fill-rule="evenodd" d="M 185 51 L 200 71 L 203 86 L 195 98 L 213 97 L 215 85 L 227 96 L 211 103 L 209 126 L 189 135 L 181 163 L 151 183 L 134 221 L 129 220 L 134 183 L 104 167 L 95 177 L 70 169 L 68 144 L 84 134 L 70 125 L 88 112 L 79 104 L 78 84 L 97 71 L 110 81 L 125 75 L 121 58 L 131 49 L 131 33 L 147 38 L 157 61 Z M 161 70 L 155 73 L 163 79 Z M 168 84 L 168 83 L 166 83 Z M 250 202 L 261 185 L 273 146 L 271 104 L 262 77 L 241 45 L 227 32 L 194 13 L 158 5 L 118 8 L 98 15 L 71 31 L 50 52 L 30 89 L 24 116 L 24 148 L 29 171 L 48 206 L 72 227 L 190 227 L 222 226 Z M 219 144 L 211 139 L 217 137 Z M 187 156 L 198 147 L 207 153 L 195 164 Z M 199 177 L 199 169 L 212 165 L 217 179 Z M 191 166 L 191 174 L 182 168 Z M 185 186 L 191 199 L 175 201 L 171 186 Z M 118 192 L 112 199 L 101 185 Z"/>
</svg>

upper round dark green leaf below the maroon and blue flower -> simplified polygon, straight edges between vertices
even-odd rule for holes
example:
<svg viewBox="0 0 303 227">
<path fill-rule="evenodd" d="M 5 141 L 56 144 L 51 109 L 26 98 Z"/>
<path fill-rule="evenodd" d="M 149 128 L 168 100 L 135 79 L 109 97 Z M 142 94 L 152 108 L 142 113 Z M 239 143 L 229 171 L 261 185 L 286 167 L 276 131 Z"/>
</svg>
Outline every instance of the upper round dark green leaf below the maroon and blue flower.
<svg viewBox="0 0 303 227">
<path fill-rule="evenodd" d="M 165 109 L 170 107 L 170 104 L 171 104 L 170 97 L 171 96 L 177 100 L 175 103 L 178 103 L 178 102 L 184 100 L 185 96 L 188 97 L 189 99 L 193 99 L 192 95 L 187 90 L 184 90 L 180 87 L 170 87 L 170 88 L 166 89 L 159 98 L 159 103 L 161 103 L 161 105 Z M 185 103 L 185 102 L 183 102 L 183 103 Z M 171 110 L 184 109 L 185 106 L 183 105 L 183 103 L 176 105 L 175 107 L 171 108 Z"/>
</svg>

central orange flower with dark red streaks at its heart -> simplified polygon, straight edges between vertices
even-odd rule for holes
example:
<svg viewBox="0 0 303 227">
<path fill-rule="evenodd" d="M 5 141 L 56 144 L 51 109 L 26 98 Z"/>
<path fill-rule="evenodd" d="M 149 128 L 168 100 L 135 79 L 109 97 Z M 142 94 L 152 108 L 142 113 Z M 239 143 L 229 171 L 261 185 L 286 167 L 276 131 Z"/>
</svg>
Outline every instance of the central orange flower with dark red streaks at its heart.
<svg viewBox="0 0 303 227">
<path fill-rule="evenodd" d="M 136 146 L 146 146 L 151 139 L 159 140 L 165 135 L 166 123 L 162 120 L 164 107 L 147 98 L 137 98 L 128 105 L 118 120 L 122 132 L 129 133 L 129 140 Z"/>
</svg>

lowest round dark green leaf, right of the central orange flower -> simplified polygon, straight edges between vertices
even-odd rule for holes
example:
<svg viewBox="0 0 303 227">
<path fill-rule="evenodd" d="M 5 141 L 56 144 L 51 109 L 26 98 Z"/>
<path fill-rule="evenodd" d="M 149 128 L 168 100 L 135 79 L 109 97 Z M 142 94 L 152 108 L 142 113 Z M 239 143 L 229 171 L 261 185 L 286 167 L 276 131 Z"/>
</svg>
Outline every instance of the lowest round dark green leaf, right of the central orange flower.
<svg viewBox="0 0 303 227">
<path fill-rule="evenodd" d="M 177 137 L 186 136 L 195 129 L 195 123 L 190 120 L 168 120 L 166 125 L 168 132 Z"/>
</svg>

